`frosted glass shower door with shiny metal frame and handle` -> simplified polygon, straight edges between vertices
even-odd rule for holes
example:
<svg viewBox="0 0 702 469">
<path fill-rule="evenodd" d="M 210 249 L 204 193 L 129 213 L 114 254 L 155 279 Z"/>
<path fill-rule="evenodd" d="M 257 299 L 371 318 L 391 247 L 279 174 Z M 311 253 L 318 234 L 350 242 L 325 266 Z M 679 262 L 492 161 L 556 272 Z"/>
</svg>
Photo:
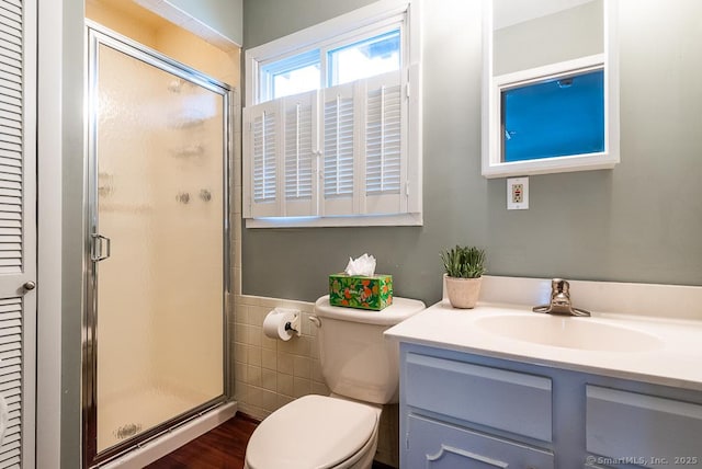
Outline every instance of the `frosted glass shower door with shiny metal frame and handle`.
<svg viewBox="0 0 702 469">
<path fill-rule="evenodd" d="M 227 85 L 88 27 L 84 467 L 227 400 Z"/>
</svg>

